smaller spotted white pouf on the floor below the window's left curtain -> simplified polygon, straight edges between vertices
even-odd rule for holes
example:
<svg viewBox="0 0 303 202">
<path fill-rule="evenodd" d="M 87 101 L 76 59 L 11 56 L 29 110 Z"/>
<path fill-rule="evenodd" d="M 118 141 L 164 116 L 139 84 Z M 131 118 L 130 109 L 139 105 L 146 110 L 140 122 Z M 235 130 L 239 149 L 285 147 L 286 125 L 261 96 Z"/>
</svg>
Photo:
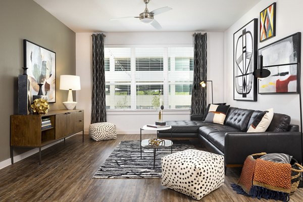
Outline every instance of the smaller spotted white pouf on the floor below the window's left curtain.
<svg viewBox="0 0 303 202">
<path fill-rule="evenodd" d="M 95 141 L 117 138 L 116 125 L 108 122 L 90 124 L 88 131 Z"/>
</svg>

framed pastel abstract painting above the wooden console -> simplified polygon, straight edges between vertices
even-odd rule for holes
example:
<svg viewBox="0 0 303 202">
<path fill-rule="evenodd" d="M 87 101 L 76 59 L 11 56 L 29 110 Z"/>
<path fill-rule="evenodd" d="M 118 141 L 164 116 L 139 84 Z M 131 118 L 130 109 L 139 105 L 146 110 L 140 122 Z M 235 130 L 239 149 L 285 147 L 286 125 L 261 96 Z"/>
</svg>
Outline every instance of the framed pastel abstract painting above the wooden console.
<svg viewBox="0 0 303 202">
<path fill-rule="evenodd" d="M 49 103 L 56 103 L 56 53 L 26 39 L 23 40 L 24 67 L 27 67 L 30 103 L 41 85 Z"/>
</svg>

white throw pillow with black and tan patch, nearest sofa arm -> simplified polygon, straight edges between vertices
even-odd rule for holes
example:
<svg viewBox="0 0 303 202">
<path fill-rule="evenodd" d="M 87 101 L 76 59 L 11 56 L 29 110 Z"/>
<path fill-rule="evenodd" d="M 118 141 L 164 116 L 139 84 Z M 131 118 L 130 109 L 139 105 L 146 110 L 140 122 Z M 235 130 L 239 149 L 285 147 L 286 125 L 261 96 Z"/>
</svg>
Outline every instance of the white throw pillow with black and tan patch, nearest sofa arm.
<svg viewBox="0 0 303 202">
<path fill-rule="evenodd" d="M 267 112 L 266 112 L 267 111 Z M 274 109 L 268 109 L 266 110 L 265 115 L 263 116 L 263 118 L 260 120 L 260 117 L 258 118 L 258 116 L 256 117 L 256 119 L 254 120 L 254 122 L 252 122 L 252 124 L 249 126 L 247 132 L 265 132 L 268 128 L 268 126 L 270 125 L 271 121 L 273 120 L 274 117 Z"/>
</svg>

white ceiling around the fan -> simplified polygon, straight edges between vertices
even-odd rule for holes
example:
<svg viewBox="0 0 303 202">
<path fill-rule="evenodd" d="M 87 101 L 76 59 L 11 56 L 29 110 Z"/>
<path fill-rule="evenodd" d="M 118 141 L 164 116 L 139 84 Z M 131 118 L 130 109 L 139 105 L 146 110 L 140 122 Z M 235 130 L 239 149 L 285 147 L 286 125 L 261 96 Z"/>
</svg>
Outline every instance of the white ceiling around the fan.
<svg viewBox="0 0 303 202">
<path fill-rule="evenodd" d="M 261 0 L 150 0 L 147 8 L 172 10 L 155 16 L 157 30 L 136 18 L 143 0 L 34 0 L 74 32 L 224 31 Z"/>
</svg>

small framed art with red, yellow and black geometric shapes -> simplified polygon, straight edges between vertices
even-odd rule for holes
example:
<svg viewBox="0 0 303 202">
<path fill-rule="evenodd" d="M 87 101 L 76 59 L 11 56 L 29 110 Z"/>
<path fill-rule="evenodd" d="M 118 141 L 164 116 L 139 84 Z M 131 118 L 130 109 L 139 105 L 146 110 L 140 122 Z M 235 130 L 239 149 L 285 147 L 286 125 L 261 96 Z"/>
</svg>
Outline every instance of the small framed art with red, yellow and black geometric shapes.
<svg viewBox="0 0 303 202">
<path fill-rule="evenodd" d="M 260 42 L 276 36 L 276 3 L 260 12 Z"/>
</svg>

